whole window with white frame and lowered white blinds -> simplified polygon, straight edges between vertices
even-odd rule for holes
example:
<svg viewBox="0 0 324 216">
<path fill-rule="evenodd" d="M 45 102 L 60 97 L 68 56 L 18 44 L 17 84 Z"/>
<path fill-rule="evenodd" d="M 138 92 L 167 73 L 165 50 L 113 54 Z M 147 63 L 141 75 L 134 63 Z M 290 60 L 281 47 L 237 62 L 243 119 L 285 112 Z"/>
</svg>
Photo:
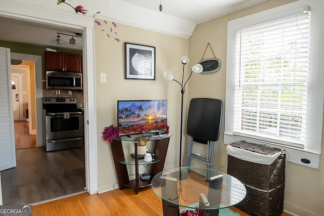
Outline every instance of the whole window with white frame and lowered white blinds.
<svg viewBox="0 0 324 216">
<path fill-rule="evenodd" d="M 228 22 L 224 143 L 320 153 L 324 89 L 314 59 L 320 49 L 311 7 L 292 5 Z"/>
</svg>

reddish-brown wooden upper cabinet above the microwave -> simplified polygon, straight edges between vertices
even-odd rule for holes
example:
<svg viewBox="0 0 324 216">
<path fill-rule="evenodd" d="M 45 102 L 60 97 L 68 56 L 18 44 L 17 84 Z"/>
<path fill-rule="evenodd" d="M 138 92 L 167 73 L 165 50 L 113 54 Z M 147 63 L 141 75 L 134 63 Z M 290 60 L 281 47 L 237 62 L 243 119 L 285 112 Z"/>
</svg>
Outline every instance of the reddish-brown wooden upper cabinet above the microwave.
<svg viewBox="0 0 324 216">
<path fill-rule="evenodd" d="M 81 55 L 60 52 L 45 52 L 47 71 L 66 71 L 82 73 Z"/>
</svg>

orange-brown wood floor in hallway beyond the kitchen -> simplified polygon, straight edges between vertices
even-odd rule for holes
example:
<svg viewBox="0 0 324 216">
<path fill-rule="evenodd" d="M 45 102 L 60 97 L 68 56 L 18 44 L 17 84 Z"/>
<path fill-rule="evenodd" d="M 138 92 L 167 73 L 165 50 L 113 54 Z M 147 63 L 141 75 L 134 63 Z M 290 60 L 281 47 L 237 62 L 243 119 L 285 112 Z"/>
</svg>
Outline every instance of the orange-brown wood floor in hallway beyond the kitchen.
<svg viewBox="0 0 324 216">
<path fill-rule="evenodd" d="M 27 121 L 15 121 L 14 125 L 16 149 L 36 147 L 36 135 L 29 134 L 29 123 Z"/>
</svg>

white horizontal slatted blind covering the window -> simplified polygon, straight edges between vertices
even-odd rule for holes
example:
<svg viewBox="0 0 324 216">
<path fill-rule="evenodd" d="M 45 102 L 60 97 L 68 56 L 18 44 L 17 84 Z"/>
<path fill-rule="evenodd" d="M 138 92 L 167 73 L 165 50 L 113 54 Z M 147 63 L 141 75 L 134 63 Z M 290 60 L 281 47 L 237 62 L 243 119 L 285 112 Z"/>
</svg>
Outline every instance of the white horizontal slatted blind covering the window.
<svg viewBox="0 0 324 216">
<path fill-rule="evenodd" d="M 309 13 L 235 31 L 233 134 L 304 147 Z"/>
</svg>

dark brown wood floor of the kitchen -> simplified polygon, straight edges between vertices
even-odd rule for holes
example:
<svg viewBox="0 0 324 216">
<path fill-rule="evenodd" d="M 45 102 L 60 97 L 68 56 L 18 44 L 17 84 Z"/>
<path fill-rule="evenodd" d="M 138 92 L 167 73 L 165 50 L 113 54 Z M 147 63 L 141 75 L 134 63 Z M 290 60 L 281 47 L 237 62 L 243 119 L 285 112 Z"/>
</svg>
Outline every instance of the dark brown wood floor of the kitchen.
<svg viewBox="0 0 324 216">
<path fill-rule="evenodd" d="M 15 137 L 19 134 L 24 133 L 15 133 Z M 25 146 L 31 145 L 28 140 L 24 140 Z M 44 147 L 17 149 L 16 161 L 16 167 L 1 171 L 4 205 L 33 204 L 85 191 L 84 148 L 52 152 Z"/>
</svg>

